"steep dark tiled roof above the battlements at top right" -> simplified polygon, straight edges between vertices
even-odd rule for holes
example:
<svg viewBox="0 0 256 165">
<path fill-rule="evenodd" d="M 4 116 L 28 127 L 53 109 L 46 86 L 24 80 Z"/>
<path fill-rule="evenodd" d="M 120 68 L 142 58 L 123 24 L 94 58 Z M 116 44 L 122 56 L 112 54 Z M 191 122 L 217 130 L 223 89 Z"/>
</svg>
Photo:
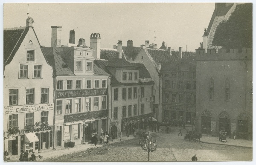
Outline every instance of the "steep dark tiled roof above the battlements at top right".
<svg viewBox="0 0 256 165">
<path fill-rule="evenodd" d="M 214 18 L 207 47 L 251 48 L 252 32 L 252 3 L 234 3 L 227 14 Z"/>
</svg>

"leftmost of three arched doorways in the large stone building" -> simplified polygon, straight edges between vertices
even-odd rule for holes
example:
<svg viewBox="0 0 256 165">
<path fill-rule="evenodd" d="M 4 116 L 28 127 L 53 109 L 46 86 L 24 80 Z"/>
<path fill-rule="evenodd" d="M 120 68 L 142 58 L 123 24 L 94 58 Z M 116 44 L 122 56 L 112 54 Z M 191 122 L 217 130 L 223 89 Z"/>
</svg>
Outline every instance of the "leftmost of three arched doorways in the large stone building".
<svg viewBox="0 0 256 165">
<path fill-rule="evenodd" d="M 204 110 L 201 118 L 202 133 L 211 134 L 212 114 L 209 112 L 209 110 Z"/>
</svg>

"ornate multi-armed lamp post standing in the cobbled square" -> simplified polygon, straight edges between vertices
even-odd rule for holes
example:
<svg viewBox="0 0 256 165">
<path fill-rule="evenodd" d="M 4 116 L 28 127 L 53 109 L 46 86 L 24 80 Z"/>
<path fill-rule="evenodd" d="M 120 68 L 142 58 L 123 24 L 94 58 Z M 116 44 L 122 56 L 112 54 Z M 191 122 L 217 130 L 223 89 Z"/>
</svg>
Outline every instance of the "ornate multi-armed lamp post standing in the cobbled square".
<svg viewBox="0 0 256 165">
<path fill-rule="evenodd" d="M 153 147 L 152 147 L 152 136 L 149 136 L 149 132 L 148 132 L 148 136 L 145 139 L 145 141 L 141 141 L 140 145 L 141 145 L 141 149 L 143 149 L 144 151 L 148 152 L 148 162 L 149 162 L 149 153 L 156 151 L 157 150 L 157 138 L 155 139 L 155 141 L 153 142 Z"/>
</svg>

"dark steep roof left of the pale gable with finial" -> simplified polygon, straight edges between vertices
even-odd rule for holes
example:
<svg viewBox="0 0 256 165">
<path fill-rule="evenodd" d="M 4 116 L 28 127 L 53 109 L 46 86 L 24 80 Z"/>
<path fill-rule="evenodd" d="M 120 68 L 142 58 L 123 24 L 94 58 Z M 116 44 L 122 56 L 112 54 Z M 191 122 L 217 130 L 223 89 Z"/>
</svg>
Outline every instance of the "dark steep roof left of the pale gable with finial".
<svg viewBox="0 0 256 165">
<path fill-rule="evenodd" d="M 3 64 L 9 64 L 26 37 L 29 27 L 3 29 Z"/>
</svg>

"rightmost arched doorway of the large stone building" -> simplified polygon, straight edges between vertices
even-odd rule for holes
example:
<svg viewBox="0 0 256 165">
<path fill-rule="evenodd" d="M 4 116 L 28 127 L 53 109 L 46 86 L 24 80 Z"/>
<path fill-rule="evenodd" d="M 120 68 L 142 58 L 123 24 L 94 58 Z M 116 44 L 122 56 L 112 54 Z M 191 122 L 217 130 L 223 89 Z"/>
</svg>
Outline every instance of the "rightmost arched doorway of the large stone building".
<svg viewBox="0 0 256 165">
<path fill-rule="evenodd" d="M 237 118 L 237 137 L 240 139 L 248 139 L 249 136 L 250 117 L 246 113 L 241 113 Z"/>
</svg>

